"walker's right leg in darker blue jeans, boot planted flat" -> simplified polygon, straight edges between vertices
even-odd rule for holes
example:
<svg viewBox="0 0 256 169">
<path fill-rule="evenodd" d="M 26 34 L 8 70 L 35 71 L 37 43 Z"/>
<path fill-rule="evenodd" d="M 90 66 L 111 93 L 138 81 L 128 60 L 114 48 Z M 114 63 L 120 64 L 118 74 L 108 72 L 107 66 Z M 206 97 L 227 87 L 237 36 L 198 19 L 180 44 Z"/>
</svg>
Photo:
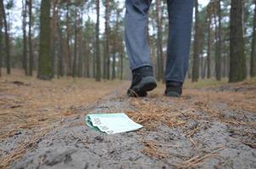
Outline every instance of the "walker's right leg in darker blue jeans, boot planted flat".
<svg viewBox="0 0 256 169">
<path fill-rule="evenodd" d="M 176 85 L 182 87 L 188 68 L 194 1 L 167 0 L 167 3 L 170 30 L 165 80 L 167 88 L 168 85 L 173 85 L 174 87 L 170 87 L 169 90 L 175 90 Z M 176 92 L 181 95 L 181 89 L 177 89 Z M 176 96 L 179 96 L 178 93 Z"/>
</svg>

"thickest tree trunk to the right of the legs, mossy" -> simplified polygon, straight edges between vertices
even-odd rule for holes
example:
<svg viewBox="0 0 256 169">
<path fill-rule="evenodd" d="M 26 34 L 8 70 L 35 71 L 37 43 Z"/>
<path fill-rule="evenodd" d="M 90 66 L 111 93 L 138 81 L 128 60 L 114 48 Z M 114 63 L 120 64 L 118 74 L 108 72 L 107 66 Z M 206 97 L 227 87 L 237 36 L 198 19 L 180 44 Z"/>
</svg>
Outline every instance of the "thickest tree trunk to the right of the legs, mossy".
<svg viewBox="0 0 256 169">
<path fill-rule="evenodd" d="M 231 1 L 231 66 L 230 82 L 242 81 L 246 78 L 245 46 L 243 39 L 243 1 Z"/>
</svg>

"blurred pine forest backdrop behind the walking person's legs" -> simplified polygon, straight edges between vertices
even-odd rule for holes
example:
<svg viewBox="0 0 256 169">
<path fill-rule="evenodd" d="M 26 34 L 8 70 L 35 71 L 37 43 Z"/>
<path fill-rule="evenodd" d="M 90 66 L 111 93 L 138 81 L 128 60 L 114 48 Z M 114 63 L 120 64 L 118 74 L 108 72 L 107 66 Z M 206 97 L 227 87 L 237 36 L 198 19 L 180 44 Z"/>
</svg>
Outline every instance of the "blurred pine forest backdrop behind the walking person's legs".
<svg viewBox="0 0 256 169">
<path fill-rule="evenodd" d="M 15 2 L 15 3 L 14 3 Z M 49 3 L 50 2 L 50 3 Z M 130 79 L 124 0 L 0 0 L 0 68 L 40 79 L 64 76 Z M 255 0 L 195 0 L 192 81 L 241 81 L 256 75 Z M 48 3 L 48 4 L 46 4 Z M 153 1 L 148 40 L 155 75 L 164 81 L 168 14 Z M 35 73 L 36 72 L 36 73 Z M 0 71 L 1 75 L 1 71 Z"/>
</svg>

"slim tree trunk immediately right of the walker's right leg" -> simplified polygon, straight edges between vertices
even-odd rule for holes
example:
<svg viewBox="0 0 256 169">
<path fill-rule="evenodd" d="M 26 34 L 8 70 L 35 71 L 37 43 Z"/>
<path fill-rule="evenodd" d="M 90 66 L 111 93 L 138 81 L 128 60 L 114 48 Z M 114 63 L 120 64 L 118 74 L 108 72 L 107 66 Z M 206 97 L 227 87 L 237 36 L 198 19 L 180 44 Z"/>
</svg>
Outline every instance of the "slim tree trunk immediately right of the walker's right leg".
<svg viewBox="0 0 256 169">
<path fill-rule="evenodd" d="M 195 38 L 194 38 L 194 53 L 193 53 L 193 65 L 192 65 L 192 82 L 198 81 L 199 78 L 199 12 L 198 12 L 198 0 L 195 0 L 196 10 L 196 22 L 195 22 Z"/>
</svg>

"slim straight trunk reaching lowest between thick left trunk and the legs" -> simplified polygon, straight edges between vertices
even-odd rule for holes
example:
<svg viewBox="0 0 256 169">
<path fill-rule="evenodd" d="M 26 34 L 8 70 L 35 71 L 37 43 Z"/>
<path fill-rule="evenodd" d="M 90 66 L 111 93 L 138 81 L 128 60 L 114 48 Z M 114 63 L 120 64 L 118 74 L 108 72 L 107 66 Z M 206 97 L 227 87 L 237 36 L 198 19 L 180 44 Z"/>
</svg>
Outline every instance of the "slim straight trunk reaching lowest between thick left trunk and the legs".
<svg viewBox="0 0 256 169">
<path fill-rule="evenodd" d="M 96 81 L 101 81 L 101 62 L 100 62 L 100 44 L 99 44 L 99 13 L 100 4 L 99 0 L 96 0 L 97 8 L 97 24 L 96 24 Z"/>
</svg>

